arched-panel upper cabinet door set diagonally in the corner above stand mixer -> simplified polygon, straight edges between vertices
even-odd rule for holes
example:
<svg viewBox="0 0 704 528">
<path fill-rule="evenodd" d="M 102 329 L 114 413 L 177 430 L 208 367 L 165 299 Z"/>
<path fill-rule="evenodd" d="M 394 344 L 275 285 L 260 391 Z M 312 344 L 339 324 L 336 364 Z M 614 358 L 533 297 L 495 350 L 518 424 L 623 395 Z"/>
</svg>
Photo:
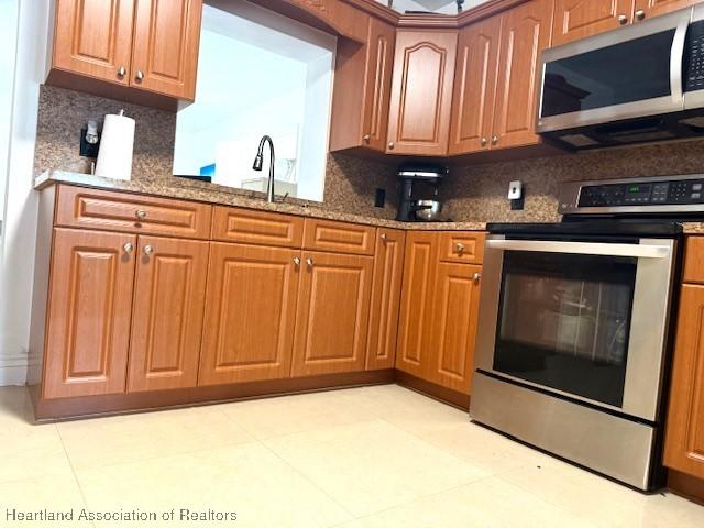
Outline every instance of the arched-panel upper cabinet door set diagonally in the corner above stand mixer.
<svg viewBox="0 0 704 528">
<path fill-rule="evenodd" d="M 397 32 L 388 153 L 448 153 L 457 40 L 453 31 Z"/>
</svg>

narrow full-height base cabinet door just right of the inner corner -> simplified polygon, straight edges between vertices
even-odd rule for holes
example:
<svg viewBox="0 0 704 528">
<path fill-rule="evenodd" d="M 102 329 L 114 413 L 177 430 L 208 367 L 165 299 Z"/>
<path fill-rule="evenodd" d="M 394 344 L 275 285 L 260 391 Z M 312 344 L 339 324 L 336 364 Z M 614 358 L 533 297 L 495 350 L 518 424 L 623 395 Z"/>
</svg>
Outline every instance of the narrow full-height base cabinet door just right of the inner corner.
<svg viewBox="0 0 704 528">
<path fill-rule="evenodd" d="M 396 369 L 424 380 L 429 380 L 432 372 L 427 341 L 435 317 L 430 304 L 437 261 L 437 233 L 407 233 Z"/>
</svg>

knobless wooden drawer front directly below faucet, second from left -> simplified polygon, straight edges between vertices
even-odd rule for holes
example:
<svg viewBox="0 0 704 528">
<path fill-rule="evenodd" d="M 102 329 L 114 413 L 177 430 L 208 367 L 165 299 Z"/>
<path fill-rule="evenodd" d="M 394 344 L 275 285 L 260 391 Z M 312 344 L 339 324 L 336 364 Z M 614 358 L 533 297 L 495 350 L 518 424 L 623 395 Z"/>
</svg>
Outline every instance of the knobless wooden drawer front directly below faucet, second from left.
<svg viewBox="0 0 704 528">
<path fill-rule="evenodd" d="M 290 215 L 216 206 L 212 239 L 245 244 L 300 248 L 304 219 Z"/>
</svg>

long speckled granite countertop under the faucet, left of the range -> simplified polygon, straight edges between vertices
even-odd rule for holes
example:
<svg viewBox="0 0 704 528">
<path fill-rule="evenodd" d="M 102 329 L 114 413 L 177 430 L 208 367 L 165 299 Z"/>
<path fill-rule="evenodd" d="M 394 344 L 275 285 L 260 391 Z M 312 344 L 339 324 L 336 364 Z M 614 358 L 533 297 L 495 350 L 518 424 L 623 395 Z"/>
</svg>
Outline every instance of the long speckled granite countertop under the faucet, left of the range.
<svg viewBox="0 0 704 528">
<path fill-rule="evenodd" d="M 34 188 L 41 190 L 55 184 L 79 185 L 96 189 L 120 190 L 123 193 L 135 193 L 165 198 L 180 198 L 310 218 L 363 223 L 380 228 L 428 231 L 483 231 L 486 228 L 485 222 L 399 222 L 386 218 L 333 211 L 296 199 L 267 204 L 263 198 L 256 197 L 253 191 L 243 191 L 241 189 L 187 178 L 173 179 L 173 182 L 169 180 L 168 183 L 121 180 L 66 170 L 46 170 L 35 178 Z"/>
</svg>

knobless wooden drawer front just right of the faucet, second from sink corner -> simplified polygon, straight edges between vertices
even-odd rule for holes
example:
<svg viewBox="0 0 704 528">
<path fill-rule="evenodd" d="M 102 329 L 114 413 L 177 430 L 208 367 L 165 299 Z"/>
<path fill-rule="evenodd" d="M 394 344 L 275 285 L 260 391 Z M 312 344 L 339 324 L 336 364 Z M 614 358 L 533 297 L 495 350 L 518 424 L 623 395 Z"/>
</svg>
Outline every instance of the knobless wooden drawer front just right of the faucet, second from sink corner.
<svg viewBox="0 0 704 528">
<path fill-rule="evenodd" d="M 304 248 L 306 250 L 374 254 L 376 228 L 332 220 L 306 219 Z"/>
</svg>

